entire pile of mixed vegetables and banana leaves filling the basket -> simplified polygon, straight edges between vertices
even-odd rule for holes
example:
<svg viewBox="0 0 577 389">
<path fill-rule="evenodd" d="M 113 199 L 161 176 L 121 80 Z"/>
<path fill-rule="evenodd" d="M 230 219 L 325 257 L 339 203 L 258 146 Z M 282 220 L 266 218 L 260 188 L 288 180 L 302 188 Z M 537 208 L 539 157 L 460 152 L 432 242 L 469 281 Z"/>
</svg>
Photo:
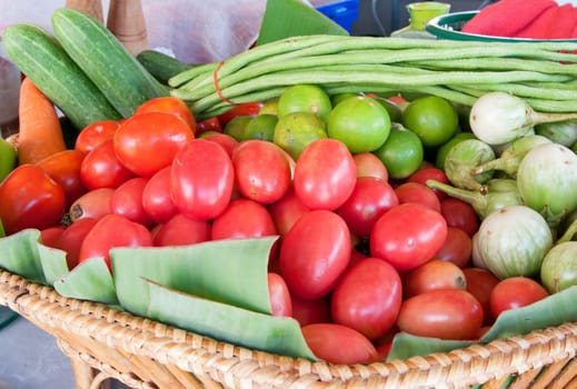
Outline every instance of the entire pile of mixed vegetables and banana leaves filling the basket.
<svg viewBox="0 0 577 389">
<path fill-rule="evenodd" d="M 166 58 L 52 22 L 3 36 L 21 107 L 70 121 L 21 111 L 42 158 L 2 143 L 9 272 L 336 365 L 576 321 L 575 43 L 295 37 L 156 79 Z"/>
</svg>

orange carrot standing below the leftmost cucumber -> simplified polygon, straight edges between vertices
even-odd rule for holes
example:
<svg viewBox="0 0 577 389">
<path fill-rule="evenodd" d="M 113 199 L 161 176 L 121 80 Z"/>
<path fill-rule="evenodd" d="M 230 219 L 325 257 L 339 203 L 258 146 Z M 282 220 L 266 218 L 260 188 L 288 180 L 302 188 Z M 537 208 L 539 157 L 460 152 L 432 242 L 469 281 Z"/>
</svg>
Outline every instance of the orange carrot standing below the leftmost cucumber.
<svg viewBox="0 0 577 389">
<path fill-rule="evenodd" d="M 18 162 L 36 163 L 66 150 L 62 127 L 54 104 L 24 78 L 20 86 Z"/>
</svg>

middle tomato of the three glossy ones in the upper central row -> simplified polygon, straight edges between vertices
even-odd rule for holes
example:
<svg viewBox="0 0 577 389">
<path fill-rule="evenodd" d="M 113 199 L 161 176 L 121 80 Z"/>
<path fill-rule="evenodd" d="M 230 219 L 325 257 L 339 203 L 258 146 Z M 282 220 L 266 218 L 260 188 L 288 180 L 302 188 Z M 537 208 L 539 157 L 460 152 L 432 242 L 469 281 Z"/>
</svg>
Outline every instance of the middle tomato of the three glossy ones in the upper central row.
<svg viewBox="0 0 577 389">
<path fill-rule="evenodd" d="M 279 200 L 290 186 L 290 167 L 281 149 L 265 140 L 242 141 L 232 153 L 239 192 L 260 203 Z"/>
</svg>

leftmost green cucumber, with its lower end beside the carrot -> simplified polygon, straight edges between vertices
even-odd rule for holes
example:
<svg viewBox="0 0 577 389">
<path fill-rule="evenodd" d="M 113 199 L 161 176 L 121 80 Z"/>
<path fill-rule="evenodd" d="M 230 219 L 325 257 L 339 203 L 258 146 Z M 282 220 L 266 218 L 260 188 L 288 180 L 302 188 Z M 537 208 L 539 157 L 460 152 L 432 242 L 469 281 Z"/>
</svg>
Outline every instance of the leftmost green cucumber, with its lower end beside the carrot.
<svg viewBox="0 0 577 389">
<path fill-rule="evenodd" d="M 3 31 L 2 43 L 10 60 L 77 130 L 94 121 L 121 118 L 48 31 L 30 23 L 11 24 Z"/>
</svg>

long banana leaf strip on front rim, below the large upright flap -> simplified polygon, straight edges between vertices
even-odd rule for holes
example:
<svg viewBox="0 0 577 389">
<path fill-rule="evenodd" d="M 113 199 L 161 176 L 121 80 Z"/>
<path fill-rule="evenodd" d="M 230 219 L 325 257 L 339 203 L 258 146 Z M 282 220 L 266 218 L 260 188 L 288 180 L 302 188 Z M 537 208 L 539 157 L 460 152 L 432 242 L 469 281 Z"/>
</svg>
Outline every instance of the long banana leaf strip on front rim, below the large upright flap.
<svg viewBox="0 0 577 389">
<path fill-rule="evenodd" d="M 316 360 L 297 320 L 207 300 L 146 280 L 148 317 L 250 349 Z"/>
</svg>

